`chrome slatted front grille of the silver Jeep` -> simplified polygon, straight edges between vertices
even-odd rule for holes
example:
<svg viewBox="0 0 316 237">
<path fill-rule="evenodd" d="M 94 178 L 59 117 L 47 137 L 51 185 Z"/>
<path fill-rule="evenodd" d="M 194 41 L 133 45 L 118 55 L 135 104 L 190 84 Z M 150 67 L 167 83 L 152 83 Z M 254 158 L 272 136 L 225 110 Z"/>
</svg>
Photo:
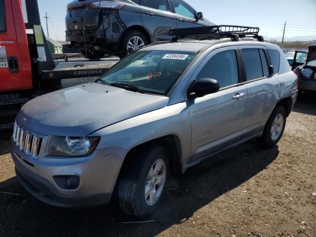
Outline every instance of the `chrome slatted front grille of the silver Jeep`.
<svg viewBox="0 0 316 237">
<path fill-rule="evenodd" d="M 16 121 L 14 123 L 13 141 L 26 155 L 35 159 L 39 158 L 43 138 L 23 129 Z"/>
</svg>

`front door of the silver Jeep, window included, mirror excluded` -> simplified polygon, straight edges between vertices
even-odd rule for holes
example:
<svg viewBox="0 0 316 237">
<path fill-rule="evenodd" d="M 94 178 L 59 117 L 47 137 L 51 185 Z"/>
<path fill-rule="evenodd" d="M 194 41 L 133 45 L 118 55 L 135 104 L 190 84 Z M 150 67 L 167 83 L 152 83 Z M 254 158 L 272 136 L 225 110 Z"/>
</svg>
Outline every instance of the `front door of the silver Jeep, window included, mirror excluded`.
<svg viewBox="0 0 316 237">
<path fill-rule="evenodd" d="M 238 85 L 242 74 L 237 46 L 217 49 L 203 61 L 196 79 L 216 79 L 220 91 L 188 100 L 191 113 L 191 158 L 196 160 L 240 141 L 246 127 L 247 89 Z"/>
</svg>

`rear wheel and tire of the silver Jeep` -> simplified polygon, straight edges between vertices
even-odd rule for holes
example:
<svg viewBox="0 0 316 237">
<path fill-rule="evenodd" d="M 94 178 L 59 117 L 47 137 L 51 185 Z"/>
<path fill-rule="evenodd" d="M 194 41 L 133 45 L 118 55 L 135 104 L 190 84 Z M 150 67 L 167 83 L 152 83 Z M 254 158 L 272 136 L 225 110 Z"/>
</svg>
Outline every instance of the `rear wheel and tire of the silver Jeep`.
<svg viewBox="0 0 316 237">
<path fill-rule="evenodd" d="M 272 148 L 281 139 L 286 125 L 286 111 L 284 107 L 277 106 L 268 119 L 265 130 L 261 137 L 257 139 L 262 148 Z M 280 126 L 282 120 L 282 126 Z M 277 121 L 277 122 L 276 122 Z M 274 130 L 274 132 L 273 132 Z"/>
</svg>

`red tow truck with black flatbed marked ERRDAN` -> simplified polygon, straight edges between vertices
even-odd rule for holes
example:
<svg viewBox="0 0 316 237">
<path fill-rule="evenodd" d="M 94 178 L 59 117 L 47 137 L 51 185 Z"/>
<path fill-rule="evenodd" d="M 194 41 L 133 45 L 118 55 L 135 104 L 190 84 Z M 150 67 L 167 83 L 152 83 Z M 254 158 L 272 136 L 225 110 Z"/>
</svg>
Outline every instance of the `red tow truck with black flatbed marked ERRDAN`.
<svg viewBox="0 0 316 237">
<path fill-rule="evenodd" d="M 30 99 L 97 79 L 118 60 L 54 61 L 37 0 L 0 0 L 0 129 Z"/>
</svg>

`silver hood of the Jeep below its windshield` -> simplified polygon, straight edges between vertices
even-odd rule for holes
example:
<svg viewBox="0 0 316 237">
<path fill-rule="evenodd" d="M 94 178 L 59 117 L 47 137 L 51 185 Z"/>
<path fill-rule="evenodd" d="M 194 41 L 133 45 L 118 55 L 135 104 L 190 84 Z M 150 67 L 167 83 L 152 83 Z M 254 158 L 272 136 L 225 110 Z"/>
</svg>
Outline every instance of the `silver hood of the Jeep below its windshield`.
<svg viewBox="0 0 316 237">
<path fill-rule="evenodd" d="M 100 128 L 167 106 L 168 97 L 88 83 L 26 103 L 17 121 L 45 135 L 86 136 Z"/>
</svg>

